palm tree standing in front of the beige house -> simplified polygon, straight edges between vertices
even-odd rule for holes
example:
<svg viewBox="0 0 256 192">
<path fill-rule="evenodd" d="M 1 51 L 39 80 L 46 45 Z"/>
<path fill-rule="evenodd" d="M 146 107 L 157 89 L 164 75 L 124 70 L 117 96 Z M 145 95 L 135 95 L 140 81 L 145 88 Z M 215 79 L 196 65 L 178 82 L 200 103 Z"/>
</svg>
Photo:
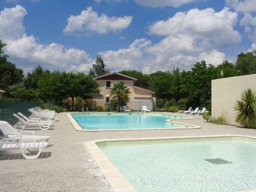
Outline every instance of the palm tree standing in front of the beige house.
<svg viewBox="0 0 256 192">
<path fill-rule="evenodd" d="M 129 88 L 127 88 L 127 86 L 124 84 L 124 82 L 115 83 L 111 87 L 110 96 L 114 96 L 113 98 L 117 98 L 118 112 L 120 112 L 121 106 L 125 105 L 125 103 L 130 100 L 130 98 L 129 98 L 130 93 L 131 92 L 129 91 Z"/>
</svg>

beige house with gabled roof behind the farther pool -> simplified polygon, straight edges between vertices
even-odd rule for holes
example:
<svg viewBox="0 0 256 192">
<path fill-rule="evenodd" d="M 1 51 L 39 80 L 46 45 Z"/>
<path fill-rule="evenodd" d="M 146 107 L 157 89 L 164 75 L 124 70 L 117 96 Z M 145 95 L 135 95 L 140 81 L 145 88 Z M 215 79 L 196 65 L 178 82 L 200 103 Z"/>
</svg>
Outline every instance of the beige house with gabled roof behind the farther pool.
<svg viewBox="0 0 256 192">
<path fill-rule="evenodd" d="M 137 81 L 136 78 L 119 73 L 111 73 L 95 77 L 94 81 L 99 84 L 100 89 L 100 94 L 92 95 L 93 101 L 96 102 L 97 105 L 104 106 L 106 103 L 110 102 L 112 99 L 110 96 L 111 87 L 115 83 L 124 82 L 131 92 L 127 108 L 141 110 L 142 106 L 147 106 L 147 109 L 155 109 L 156 98 L 152 95 L 154 92 L 134 86 L 134 83 Z"/>
</svg>

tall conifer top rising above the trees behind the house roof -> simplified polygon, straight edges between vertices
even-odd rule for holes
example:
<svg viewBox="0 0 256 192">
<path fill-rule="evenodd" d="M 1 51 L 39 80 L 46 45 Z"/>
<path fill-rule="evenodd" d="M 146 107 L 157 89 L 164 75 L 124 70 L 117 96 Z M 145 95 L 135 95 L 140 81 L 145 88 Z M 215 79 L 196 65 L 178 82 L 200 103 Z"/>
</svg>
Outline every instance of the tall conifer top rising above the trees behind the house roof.
<svg viewBox="0 0 256 192">
<path fill-rule="evenodd" d="M 100 75 L 109 74 L 109 70 L 105 69 L 106 64 L 100 55 L 97 56 L 95 63 L 92 65 L 92 69 L 90 69 L 89 74 L 93 77 L 97 77 Z"/>
</svg>

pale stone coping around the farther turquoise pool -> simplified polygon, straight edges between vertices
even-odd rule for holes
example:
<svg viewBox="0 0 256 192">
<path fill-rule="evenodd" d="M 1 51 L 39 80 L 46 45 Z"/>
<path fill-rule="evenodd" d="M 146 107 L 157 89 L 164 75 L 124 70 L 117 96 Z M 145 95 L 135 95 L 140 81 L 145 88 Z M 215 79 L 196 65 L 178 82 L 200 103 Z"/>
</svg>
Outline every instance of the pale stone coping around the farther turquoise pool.
<svg viewBox="0 0 256 192">
<path fill-rule="evenodd" d="M 82 129 L 82 127 L 76 122 L 76 120 L 71 116 L 71 114 L 76 114 L 76 113 L 68 113 L 67 116 L 69 118 L 69 121 L 73 125 L 76 131 L 90 131 L 90 132 L 98 132 L 98 131 L 151 131 L 151 130 L 183 130 L 183 129 L 201 129 L 201 126 L 197 125 L 191 125 L 191 124 L 186 124 L 186 123 L 179 123 L 176 122 L 175 120 L 187 120 L 187 119 L 194 119 L 193 117 L 187 117 L 187 116 L 182 116 L 185 118 L 182 119 L 166 119 L 166 122 L 169 123 L 176 123 L 179 125 L 185 125 L 189 127 L 175 127 L 175 128 L 153 128 L 153 129 L 114 129 L 114 130 L 88 130 L 88 129 Z M 78 114 L 78 113 L 77 113 Z M 154 113 L 152 113 L 154 114 Z M 164 113 L 156 113 L 156 114 L 163 114 L 163 115 L 170 115 L 170 114 L 164 114 Z M 180 116 L 180 115 L 176 115 Z"/>
</svg>

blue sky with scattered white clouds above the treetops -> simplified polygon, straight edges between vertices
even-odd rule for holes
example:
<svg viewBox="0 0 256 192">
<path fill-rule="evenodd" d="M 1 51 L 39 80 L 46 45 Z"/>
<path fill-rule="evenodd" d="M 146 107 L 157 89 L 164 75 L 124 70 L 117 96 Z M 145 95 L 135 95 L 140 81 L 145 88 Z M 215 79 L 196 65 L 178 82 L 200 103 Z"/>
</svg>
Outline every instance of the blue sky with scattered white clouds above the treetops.
<svg viewBox="0 0 256 192">
<path fill-rule="evenodd" d="M 4 53 L 24 74 L 190 70 L 256 49 L 256 0 L 0 0 Z"/>
</svg>

